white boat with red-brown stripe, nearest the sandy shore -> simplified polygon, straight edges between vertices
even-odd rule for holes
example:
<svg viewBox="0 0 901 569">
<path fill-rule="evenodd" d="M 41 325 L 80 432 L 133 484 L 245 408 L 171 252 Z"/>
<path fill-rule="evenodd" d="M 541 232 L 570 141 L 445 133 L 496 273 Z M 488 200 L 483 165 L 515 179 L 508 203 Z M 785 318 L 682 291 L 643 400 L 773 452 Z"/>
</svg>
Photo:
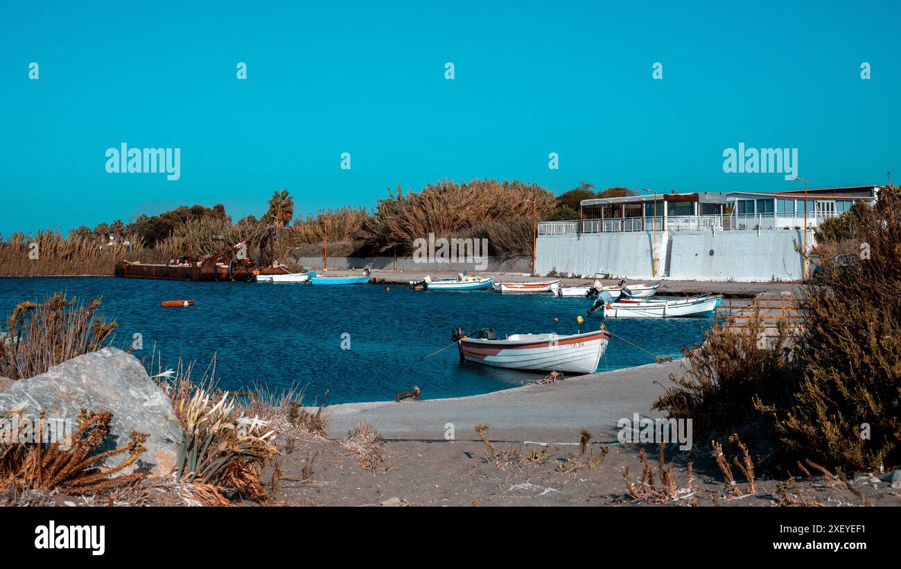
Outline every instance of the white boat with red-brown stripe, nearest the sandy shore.
<svg viewBox="0 0 901 569">
<path fill-rule="evenodd" d="M 494 330 L 479 330 L 474 338 L 466 330 L 453 333 L 460 362 L 533 371 L 593 374 L 604 355 L 610 334 L 594 330 L 582 334 L 513 334 L 497 339 Z"/>
</svg>

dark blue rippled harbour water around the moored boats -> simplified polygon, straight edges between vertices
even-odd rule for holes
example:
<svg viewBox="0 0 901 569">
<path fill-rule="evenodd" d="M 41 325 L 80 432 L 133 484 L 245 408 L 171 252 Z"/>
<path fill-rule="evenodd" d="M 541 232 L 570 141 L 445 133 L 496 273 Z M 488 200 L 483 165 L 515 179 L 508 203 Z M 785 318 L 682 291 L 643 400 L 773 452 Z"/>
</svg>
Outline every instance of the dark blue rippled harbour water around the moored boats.
<svg viewBox="0 0 901 569">
<path fill-rule="evenodd" d="M 494 328 L 498 338 L 517 332 L 570 334 L 591 301 L 491 291 L 416 292 L 390 285 L 270 285 L 185 283 L 113 277 L 0 278 L 0 312 L 57 291 L 88 299 L 103 295 L 101 312 L 119 322 L 114 345 L 126 347 L 140 333 L 150 357 L 163 365 L 179 357 L 204 367 L 216 355 L 219 384 L 242 390 L 307 385 L 307 399 L 329 391 L 328 402 L 393 400 L 414 385 L 423 398 L 488 393 L 539 379 L 543 374 L 461 366 L 456 347 L 422 359 L 451 343 L 451 329 Z M 161 308 L 164 300 L 190 299 L 187 308 Z M 554 319 L 559 322 L 554 322 Z M 586 318 L 581 331 L 603 320 Z M 679 356 L 713 325 L 712 318 L 605 321 L 609 330 L 661 356 Z M 350 349 L 342 335 L 350 334 Z M 346 338 L 346 337 L 344 337 Z M 346 346 L 346 342 L 345 342 Z M 612 339 L 598 371 L 650 364 L 654 358 Z"/>
</svg>

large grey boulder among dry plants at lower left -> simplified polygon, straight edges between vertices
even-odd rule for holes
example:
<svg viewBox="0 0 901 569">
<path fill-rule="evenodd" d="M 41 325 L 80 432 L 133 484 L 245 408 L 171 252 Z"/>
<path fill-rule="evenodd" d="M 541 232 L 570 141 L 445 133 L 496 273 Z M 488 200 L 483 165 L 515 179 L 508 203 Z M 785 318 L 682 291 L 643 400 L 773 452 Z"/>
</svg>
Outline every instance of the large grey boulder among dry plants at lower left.
<svg viewBox="0 0 901 569">
<path fill-rule="evenodd" d="M 122 447 L 132 430 L 150 435 L 144 443 L 147 451 L 123 474 L 139 471 L 161 476 L 175 466 L 182 435 L 168 395 L 137 358 L 120 349 L 73 357 L 0 393 L 0 412 L 13 410 L 36 418 L 45 411 L 46 420 L 71 420 L 73 429 L 80 409 L 113 413 L 101 450 Z M 122 464 L 126 457 L 112 456 L 106 465 Z"/>
</svg>

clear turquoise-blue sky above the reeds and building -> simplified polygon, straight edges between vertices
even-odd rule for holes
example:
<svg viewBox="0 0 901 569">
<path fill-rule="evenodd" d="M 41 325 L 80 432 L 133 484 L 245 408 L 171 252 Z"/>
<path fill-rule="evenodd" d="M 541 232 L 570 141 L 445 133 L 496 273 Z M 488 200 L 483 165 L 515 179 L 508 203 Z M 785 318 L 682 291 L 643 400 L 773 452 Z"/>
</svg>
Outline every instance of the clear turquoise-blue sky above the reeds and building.
<svg viewBox="0 0 901 569">
<path fill-rule="evenodd" d="M 897 2 L 181 4 L 2 8 L 0 235 L 237 219 L 276 189 L 298 213 L 373 206 L 445 177 L 799 187 L 724 173 L 739 142 L 798 149 L 811 187 L 901 179 Z M 122 142 L 181 149 L 180 179 L 107 173 Z"/>
</svg>

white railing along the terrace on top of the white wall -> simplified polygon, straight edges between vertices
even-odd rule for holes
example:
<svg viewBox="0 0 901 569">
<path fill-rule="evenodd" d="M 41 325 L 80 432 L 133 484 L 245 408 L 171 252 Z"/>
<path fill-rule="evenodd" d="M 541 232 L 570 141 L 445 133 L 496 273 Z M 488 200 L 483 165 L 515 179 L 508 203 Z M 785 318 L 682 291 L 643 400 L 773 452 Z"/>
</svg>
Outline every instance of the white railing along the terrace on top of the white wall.
<svg viewBox="0 0 901 569">
<path fill-rule="evenodd" d="M 840 212 L 809 212 L 807 227 L 841 215 Z M 696 230 L 781 230 L 802 229 L 804 213 L 733 213 L 732 215 L 672 215 L 661 217 L 626 217 L 609 220 L 541 221 L 539 235 L 566 235 L 569 233 L 614 233 L 622 231 Z M 579 228 L 581 224 L 581 228 Z"/>
</svg>

